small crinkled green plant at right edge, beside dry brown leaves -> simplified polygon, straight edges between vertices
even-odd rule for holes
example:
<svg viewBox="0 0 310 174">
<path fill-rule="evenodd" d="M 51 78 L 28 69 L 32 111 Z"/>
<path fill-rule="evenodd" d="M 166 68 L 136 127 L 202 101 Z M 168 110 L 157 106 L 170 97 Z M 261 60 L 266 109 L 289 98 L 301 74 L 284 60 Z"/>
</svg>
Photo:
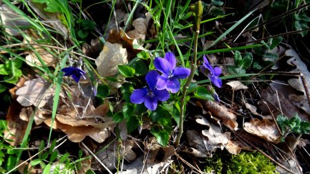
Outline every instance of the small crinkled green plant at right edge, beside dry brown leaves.
<svg viewBox="0 0 310 174">
<path fill-rule="evenodd" d="M 287 116 L 278 116 L 277 123 L 281 127 L 282 131 L 282 142 L 284 142 L 285 137 L 289 133 L 309 133 L 310 132 L 310 122 L 301 121 L 296 113 L 292 118 L 287 118 Z"/>
</svg>

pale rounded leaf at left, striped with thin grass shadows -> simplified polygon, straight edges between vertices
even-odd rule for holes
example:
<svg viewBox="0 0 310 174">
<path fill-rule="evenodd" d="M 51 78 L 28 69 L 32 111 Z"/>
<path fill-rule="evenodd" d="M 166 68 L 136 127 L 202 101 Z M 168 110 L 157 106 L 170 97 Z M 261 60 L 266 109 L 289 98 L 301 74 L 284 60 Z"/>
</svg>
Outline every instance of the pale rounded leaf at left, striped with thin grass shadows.
<svg viewBox="0 0 310 174">
<path fill-rule="evenodd" d="M 34 78 L 25 81 L 24 86 L 17 89 L 16 95 L 23 107 L 34 105 L 41 108 L 54 95 L 54 88 L 43 78 Z"/>
</svg>

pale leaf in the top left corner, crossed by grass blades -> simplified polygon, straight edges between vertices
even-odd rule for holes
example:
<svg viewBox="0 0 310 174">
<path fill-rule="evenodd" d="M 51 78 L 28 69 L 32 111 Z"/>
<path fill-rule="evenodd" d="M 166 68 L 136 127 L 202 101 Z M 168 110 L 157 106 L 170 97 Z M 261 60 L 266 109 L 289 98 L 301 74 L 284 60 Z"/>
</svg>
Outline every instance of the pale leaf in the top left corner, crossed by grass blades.
<svg viewBox="0 0 310 174">
<path fill-rule="evenodd" d="M 0 6 L 1 24 L 6 32 L 11 36 L 20 36 L 25 28 L 30 28 L 30 23 L 26 21 L 21 15 L 17 14 L 5 4 Z"/>
</svg>

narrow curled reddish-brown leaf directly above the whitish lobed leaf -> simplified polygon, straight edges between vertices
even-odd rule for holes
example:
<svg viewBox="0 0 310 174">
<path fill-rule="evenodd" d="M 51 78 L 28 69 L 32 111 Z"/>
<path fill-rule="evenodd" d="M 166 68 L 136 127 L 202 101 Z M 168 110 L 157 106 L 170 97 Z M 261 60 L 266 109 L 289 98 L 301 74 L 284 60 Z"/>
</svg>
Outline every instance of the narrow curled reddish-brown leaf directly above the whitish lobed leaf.
<svg viewBox="0 0 310 174">
<path fill-rule="evenodd" d="M 215 116 L 223 120 L 223 123 L 231 130 L 238 130 L 237 116 L 234 113 L 228 111 L 228 109 L 218 102 L 207 100 L 203 102 L 204 106 L 211 111 Z"/>
</svg>

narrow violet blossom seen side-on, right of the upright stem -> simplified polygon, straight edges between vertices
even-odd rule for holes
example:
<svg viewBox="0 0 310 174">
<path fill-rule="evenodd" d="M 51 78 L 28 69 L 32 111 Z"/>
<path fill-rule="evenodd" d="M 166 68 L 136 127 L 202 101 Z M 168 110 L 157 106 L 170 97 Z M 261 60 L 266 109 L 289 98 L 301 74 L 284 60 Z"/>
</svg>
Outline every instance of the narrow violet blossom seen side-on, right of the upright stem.
<svg viewBox="0 0 310 174">
<path fill-rule="evenodd" d="M 216 87 L 222 87 L 222 79 L 218 78 L 222 74 L 220 67 L 212 67 L 205 56 L 203 56 L 203 66 L 200 66 L 200 70 L 203 73 L 208 73 L 207 77 Z"/>
</svg>

